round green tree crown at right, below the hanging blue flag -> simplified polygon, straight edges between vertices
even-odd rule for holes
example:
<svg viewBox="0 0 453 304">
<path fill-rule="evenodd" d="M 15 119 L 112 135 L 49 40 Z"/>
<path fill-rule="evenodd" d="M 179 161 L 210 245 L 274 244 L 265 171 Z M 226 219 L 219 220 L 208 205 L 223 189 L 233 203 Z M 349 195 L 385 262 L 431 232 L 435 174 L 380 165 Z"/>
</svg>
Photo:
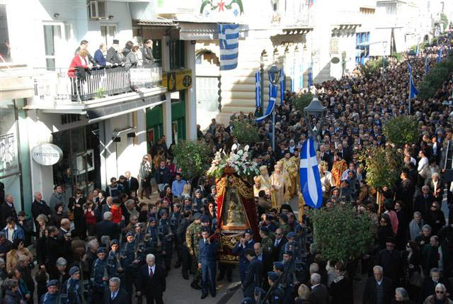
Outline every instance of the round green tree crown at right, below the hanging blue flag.
<svg viewBox="0 0 453 304">
<path fill-rule="evenodd" d="M 391 118 L 384 125 L 384 135 L 388 142 L 396 147 L 414 144 L 420 137 L 417 120 L 413 116 L 398 116 Z"/>
</svg>

